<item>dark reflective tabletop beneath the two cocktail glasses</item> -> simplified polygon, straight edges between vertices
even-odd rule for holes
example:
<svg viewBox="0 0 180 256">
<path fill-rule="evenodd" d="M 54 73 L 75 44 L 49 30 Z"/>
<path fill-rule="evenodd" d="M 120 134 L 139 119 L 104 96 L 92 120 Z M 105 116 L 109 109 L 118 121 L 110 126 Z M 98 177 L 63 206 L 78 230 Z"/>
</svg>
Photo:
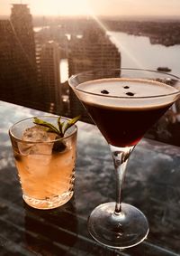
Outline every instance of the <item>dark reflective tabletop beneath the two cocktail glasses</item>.
<svg viewBox="0 0 180 256">
<path fill-rule="evenodd" d="M 48 211 L 23 203 L 8 128 L 19 119 L 45 114 L 0 101 L 0 254 L 180 255 L 179 147 L 143 139 L 130 156 L 123 202 L 145 213 L 150 228 L 148 238 L 131 249 L 104 247 L 94 242 L 87 231 L 89 214 L 98 204 L 114 201 L 115 189 L 109 148 L 94 125 L 77 124 L 73 198 Z"/>
</svg>

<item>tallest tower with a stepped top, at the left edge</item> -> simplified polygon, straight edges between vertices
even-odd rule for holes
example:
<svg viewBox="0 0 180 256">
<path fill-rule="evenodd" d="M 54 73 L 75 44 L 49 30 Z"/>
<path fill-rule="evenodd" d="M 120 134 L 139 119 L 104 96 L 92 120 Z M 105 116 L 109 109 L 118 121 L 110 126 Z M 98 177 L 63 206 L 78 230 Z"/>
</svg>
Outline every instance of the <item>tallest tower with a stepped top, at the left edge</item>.
<svg viewBox="0 0 180 256">
<path fill-rule="evenodd" d="M 0 21 L 0 99 L 40 109 L 32 19 L 27 5 L 13 5 Z"/>
</svg>

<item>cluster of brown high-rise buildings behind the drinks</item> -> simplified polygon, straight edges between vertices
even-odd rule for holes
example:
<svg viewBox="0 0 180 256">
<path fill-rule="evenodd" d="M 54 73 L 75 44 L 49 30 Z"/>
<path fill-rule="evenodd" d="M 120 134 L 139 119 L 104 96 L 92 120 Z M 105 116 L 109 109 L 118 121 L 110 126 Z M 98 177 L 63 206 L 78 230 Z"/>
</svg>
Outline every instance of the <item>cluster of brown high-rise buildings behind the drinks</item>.
<svg viewBox="0 0 180 256">
<path fill-rule="evenodd" d="M 72 115 L 75 104 L 71 113 L 69 107 L 75 97 L 69 94 L 68 76 L 95 67 L 119 68 L 121 63 L 121 53 L 94 20 L 80 23 L 78 31 L 82 33 L 80 37 L 73 24 L 62 23 L 62 26 L 47 26 L 35 32 L 31 8 L 26 4 L 12 5 L 10 18 L 0 20 L 0 32 L 3 35 L 0 44 L 0 66 L 3 70 L 0 86 L 4 89 L 3 100 L 17 103 L 17 98 L 18 103 L 25 106 L 30 107 L 33 103 L 33 108 L 39 106 L 37 108 L 58 114 L 65 114 L 66 110 L 67 115 Z M 63 60 L 67 61 L 67 78 L 61 82 Z M 19 67 L 21 73 L 18 72 Z M 30 82 L 24 81 L 24 78 Z M 34 81 L 31 82 L 30 78 L 34 78 Z M 26 97 L 29 89 L 31 95 L 29 93 Z M 79 105 L 77 101 L 77 115 L 85 112 Z M 86 112 L 84 119 L 89 121 Z"/>
</svg>

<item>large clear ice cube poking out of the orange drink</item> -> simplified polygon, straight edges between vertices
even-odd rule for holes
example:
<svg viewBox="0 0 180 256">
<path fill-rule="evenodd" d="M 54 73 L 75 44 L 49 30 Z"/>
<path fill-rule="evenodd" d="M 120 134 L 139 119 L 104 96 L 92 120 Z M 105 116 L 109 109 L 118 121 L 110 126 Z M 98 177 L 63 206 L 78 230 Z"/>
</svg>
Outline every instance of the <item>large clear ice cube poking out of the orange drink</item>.
<svg viewBox="0 0 180 256">
<path fill-rule="evenodd" d="M 19 142 L 19 151 L 23 156 L 27 155 L 50 155 L 52 152 L 53 143 L 48 143 L 55 139 L 56 135 L 47 132 L 40 126 L 34 126 L 25 129 L 22 140 Z M 29 142 L 44 142 L 44 143 L 28 143 Z"/>
</svg>

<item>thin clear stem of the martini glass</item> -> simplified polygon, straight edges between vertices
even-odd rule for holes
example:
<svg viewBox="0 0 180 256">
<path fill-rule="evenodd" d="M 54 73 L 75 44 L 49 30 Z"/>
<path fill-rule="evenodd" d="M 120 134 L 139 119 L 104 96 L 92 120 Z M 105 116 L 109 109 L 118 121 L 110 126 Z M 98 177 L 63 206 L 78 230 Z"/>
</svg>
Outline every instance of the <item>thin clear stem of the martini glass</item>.
<svg viewBox="0 0 180 256">
<path fill-rule="evenodd" d="M 114 147 L 110 145 L 112 152 L 112 159 L 115 168 L 116 176 L 116 202 L 115 202 L 115 215 L 121 214 L 121 192 L 122 185 L 125 177 L 126 166 L 128 164 L 128 159 L 133 147 Z"/>
</svg>

